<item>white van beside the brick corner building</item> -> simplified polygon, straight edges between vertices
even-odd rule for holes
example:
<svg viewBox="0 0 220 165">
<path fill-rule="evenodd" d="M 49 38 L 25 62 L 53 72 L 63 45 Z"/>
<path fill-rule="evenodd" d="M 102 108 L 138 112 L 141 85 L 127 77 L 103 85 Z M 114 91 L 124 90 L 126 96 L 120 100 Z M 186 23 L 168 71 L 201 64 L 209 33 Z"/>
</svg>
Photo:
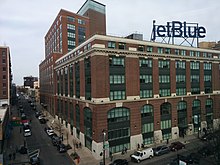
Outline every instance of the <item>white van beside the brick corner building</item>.
<svg viewBox="0 0 220 165">
<path fill-rule="evenodd" d="M 131 160 L 139 163 L 142 160 L 152 158 L 154 156 L 153 148 L 144 148 L 142 150 L 136 151 L 131 155 Z"/>
</svg>

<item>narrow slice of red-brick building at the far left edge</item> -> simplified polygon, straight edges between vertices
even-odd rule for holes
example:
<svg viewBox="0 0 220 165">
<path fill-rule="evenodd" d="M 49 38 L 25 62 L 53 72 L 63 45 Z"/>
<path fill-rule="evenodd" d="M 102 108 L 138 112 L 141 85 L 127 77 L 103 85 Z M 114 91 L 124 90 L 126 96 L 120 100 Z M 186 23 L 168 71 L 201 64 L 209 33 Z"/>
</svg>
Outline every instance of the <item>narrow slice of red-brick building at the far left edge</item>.
<svg viewBox="0 0 220 165">
<path fill-rule="evenodd" d="M 0 106 L 10 105 L 12 74 L 9 47 L 0 46 L 0 61 Z"/>
</svg>

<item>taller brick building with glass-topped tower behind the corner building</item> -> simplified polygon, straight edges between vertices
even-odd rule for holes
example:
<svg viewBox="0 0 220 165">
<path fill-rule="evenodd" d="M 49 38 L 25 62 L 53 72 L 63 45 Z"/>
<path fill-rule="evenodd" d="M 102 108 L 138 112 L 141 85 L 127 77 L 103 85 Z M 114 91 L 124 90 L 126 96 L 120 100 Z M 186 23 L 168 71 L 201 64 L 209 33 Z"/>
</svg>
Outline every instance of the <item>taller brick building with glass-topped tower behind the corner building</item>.
<svg viewBox="0 0 220 165">
<path fill-rule="evenodd" d="M 77 13 L 61 9 L 45 36 L 45 59 L 39 65 L 40 99 L 54 111 L 55 61 L 93 34 L 106 34 L 105 5 L 87 0 Z"/>
</svg>

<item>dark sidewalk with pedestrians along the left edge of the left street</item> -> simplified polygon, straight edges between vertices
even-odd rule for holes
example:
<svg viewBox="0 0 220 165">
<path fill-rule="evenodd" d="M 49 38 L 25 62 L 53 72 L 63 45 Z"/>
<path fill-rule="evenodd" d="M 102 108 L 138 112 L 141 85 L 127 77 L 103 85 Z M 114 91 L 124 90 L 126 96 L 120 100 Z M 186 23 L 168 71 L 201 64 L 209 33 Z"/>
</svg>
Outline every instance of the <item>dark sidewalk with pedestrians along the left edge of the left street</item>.
<svg viewBox="0 0 220 165">
<path fill-rule="evenodd" d="M 17 108 L 16 106 L 11 107 L 12 116 L 17 116 Z M 14 164 L 29 164 L 29 159 L 27 154 L 20 154 L 17 152 L 17 149 L 24 145 L 24 137 L 20 132 L 20 126 L 12 127 L 11 135 L 8 139 L 5 139 L 4 147 L 3 147 L 3 159 L 4 164 L 6 165 L 14 165 Z M 15 158 L 13 159 L 13 153 Z M 9 158 L 9 154 L 11 154 L 11 159 Z"/>
</svg>

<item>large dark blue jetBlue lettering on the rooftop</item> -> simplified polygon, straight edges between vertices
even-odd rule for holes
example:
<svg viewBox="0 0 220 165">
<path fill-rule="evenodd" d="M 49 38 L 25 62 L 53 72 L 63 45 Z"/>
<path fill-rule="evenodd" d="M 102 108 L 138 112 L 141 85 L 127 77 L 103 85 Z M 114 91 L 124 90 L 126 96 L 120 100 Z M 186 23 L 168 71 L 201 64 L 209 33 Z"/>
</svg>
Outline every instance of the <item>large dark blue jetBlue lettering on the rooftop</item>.
<svg viewBox="0 0 220 165">
<path fill-rule="evenodd" d="M 199 26 L 198 23 L 186 23 L 179 21 L 167 22 L 166 25 L 156 25 L 153 21 L 153 30 L 151 40 L 155 41 L 156 37 L 173 37 L 173 38 L 204 38 L 206 29 Z"/>
</svg>

